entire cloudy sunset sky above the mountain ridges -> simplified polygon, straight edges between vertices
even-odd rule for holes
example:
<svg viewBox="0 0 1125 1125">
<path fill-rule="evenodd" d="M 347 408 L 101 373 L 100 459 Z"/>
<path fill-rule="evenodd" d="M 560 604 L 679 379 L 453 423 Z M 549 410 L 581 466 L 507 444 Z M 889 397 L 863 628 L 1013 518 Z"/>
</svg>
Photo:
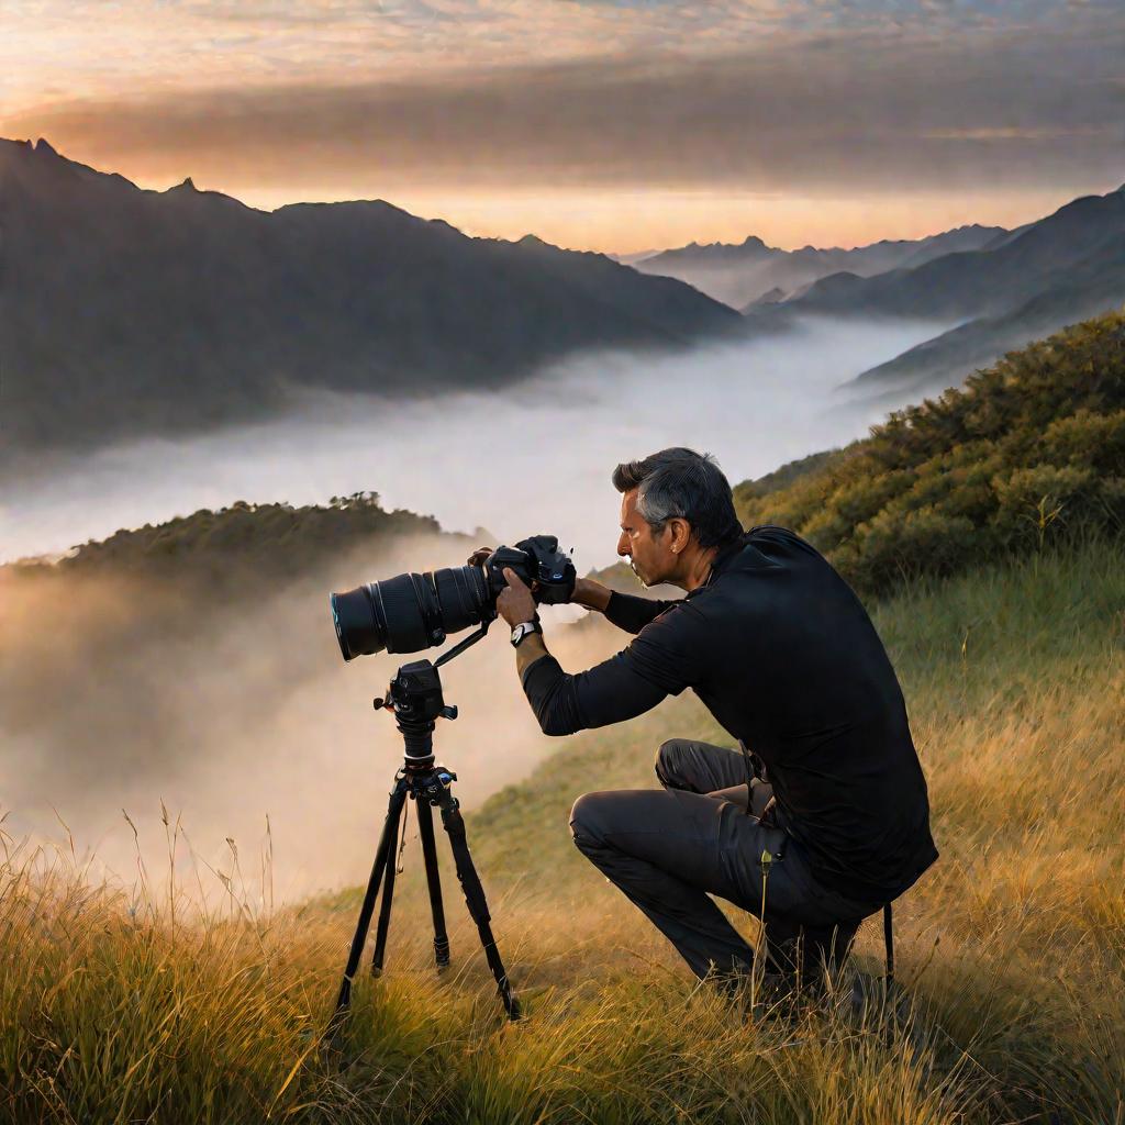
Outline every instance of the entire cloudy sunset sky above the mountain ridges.
<svg viewBox="0 0 1125 1125">
<path fill-rule="evenodd" d="M 1125 181 L 1120 0 L 0 0 L 0 136 L 253 206 L 630 253 Z"/>
</svg>

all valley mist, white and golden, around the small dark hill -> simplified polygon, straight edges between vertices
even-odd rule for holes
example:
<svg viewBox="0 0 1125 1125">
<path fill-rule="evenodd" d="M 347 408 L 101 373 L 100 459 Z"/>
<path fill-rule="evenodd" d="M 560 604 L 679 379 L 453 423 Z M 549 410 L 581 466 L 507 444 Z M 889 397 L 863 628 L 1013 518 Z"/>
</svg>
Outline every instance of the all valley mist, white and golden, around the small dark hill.
<svg viewBox="0 0 1125 1125">
<path fill-rule="evenodd" d="M 687 444 L 713 452 L 737 483 L 840 444 L 878 415 L 842 410 L 832 388 L 934 332 L 809 323 L 740 346 L 591 356 L 493 395 L 323 396 L 254 428 L 137 442 L 7 482 L 0 543 L 14 559 L 238 498 L 302 504 L 374 489 L 388 508 L 431 513 L 474 538 L 554 532 L 577 548 L 584 573 L 614 557 L 609 475 L 619 460 Z M 136 576 L 17 580 L 0 570 L 3 829 L 66 848 L 71 834 L 79 856 L 96 856 L 94 873 L 129 883 L 140 860 L 156 880 L 169 865 L 163 802 L 186 832 L 180 879 L 198 872 L 218 885 L 208 868 L 232 872 L 230 837 L 250 884 L 272 848 L 278 900 L 361 882 L 402 757 L 371 698 L 408 658 L 345 665 L 327 594 L 461 565 L 472 541 L 352 551 L 280 590 L 250 584 L 222 606 Z M 466 808 L 565 746 L 539 732 L 505 633 L 442 673 L 461 717 L 440 724 L 439 758 L 459 772 Z M 549 640 L 578 670 L 627 638 L 556 622 Z"/>
</svg>

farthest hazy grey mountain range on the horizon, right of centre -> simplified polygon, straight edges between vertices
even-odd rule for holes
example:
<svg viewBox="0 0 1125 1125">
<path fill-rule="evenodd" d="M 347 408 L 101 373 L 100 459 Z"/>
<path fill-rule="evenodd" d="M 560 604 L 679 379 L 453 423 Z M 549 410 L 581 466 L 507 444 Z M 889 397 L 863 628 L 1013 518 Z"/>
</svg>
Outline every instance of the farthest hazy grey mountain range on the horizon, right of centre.
<svg viewBox="0 0 1125 1125">
<path fill-rule="evenodd" d="M 962 226 L 944 234 L 903 242 L 874 242 L 855 250 L 778 250 L 750 235 L 737 245 L 691 243 L 678 250 L 633 260 L 642 273 L 678 278 L 736 308 L 759 302 L 771 290 L 792 297 L 818 278 L 848 270 L 871 277 L 899 267 L 919 266 L 957 250 L 975 250 L 1005 234 L 1000 227 Z"/>
</svg>

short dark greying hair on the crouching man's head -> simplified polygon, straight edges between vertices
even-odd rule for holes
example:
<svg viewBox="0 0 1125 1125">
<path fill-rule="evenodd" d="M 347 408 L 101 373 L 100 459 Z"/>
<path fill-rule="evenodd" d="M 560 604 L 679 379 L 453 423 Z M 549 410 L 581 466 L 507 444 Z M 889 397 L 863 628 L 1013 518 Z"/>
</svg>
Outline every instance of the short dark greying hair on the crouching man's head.
<svg viewBox="0 0 1125 1125">
<path fill-rule="evenodd" d="M 722 547 L 742 533 L 730 483 L 710 453 L 676 447 L 623 461 L 613 470 L 613 487 L 638 489 L 637 511 L 654 534 L 673 518 L 687 521 L 700 547 Z"/>
</svg>

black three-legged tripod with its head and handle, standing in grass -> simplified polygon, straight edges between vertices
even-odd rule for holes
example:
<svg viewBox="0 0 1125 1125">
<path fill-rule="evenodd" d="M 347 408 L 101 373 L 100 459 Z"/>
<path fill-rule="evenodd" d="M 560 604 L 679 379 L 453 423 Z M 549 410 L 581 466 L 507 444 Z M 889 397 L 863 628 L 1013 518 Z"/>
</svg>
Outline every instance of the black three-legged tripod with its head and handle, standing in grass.
<svg viewBox="0 0 1125 1125">
<path fill-rule="evenodd" d="M 501 961 L 493 937 L 492 918 L 488 903 L 485 901 L 484 888 L 472 864 L 469 845 L 465 835 L 465 820 L 460 807 L 451 792 L 457 774 L 444 766 L 436 765 L 433 756 L 433 730 L 435 720 L 456 719 L 457 708 L 447 706 L 441 692 L 441 677 L 438 668 L 464 652 L 476 644 L 488 630 L 484 624 L 475 633 L 460 644 L 454 645 L 441 656 L 435 664 L 429 660 L 416 660 L 403 665 L 390 681 L 386 699 L 375 700 L 376 710 L 387 708 L 394 711 L 395 721 L 405 742 L 405 758 L 402 768 L 395 774 L 395 784 L 390 791 L 387 806 L 387 817 L 379 836 L 379 846 L 375 853 L 375 864 L 371 878 L 368 880 L 367 893 L 360 908 L 356 935 L 352 938 L 348 965 L 340 983 L 340 994 L 336 998 L 335 1014 L 332 1026 L 336 1027 L 345 1017 L 351 1005 L 352 981 L 363 956 L 371 916 L 375 912 L 376 899 L 382 885 L 382 900 L 379 904 L 379 920 L 375 932 L 375 956 L 371 960 L 371 975 L 382 973 L 384 954 L 387 948 L 387 930 L 390 926 L 390 906 L 395 892 L 395 862 L 392 849 L 398 839 L 398 827 L 403 808 L 407 798 L 414 801 L 417 812 L 418 836 L 422 840 L 422 856 L 425 864 L 426 882 L 430 890 L 430 910 L 433 915 L 433 952 L 439 972 L 449 964 L 449 937 L 446 934 L 446 910 L 441 899 L 441 879 L 438 872 L 438 849 L 433 832 L 433 807 L 441 812 L 441 822 L 449 835 L 453 852 L 453 863 L 457 879 L 465 893 L 465 903 L 469 916 L 476 922 L 480 944 L 484 946 L 485 960 L 496 979 L 496 988 L 504 1004 L 504 1010 L 510 1019 L 520 1018 L 519 1001 L 512 996 L 507 972 Z"/>
</svg>

